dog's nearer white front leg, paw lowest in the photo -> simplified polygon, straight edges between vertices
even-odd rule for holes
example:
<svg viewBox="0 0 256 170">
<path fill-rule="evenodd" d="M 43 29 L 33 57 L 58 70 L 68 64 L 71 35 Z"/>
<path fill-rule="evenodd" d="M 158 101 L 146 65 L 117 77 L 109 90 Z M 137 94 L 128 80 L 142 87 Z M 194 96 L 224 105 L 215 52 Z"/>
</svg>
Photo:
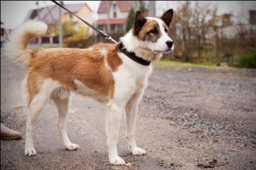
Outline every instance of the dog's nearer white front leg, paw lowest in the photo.
<svg viewBox="0 0 256 170">
<path fill-rule="evenodd" d="M 125 165 L 125 161 L 118 156 L 116 147 L 123 110 L 117 104 L 108 106 L 108 157 L 109 162 L 115 165 Z"/>
</svg>

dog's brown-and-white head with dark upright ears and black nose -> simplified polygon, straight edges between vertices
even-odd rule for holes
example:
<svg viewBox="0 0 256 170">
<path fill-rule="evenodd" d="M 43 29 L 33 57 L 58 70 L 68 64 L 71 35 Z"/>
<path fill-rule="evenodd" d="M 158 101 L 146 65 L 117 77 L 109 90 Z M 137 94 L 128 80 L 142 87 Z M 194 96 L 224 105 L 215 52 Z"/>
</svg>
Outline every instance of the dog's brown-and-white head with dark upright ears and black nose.
<svg viewBox="0 0 256 170">
<path fill-rule="evenodd" d="M 141 47 L 154 54 L 167 54 L 173 51 L 173 41 L 168 35 L 172 17 L 172 9 L 166 11 L 160 18 L 144 17 L 142 12 L 137 11 L 132 33 L 141 42 Z"/>
</svg>

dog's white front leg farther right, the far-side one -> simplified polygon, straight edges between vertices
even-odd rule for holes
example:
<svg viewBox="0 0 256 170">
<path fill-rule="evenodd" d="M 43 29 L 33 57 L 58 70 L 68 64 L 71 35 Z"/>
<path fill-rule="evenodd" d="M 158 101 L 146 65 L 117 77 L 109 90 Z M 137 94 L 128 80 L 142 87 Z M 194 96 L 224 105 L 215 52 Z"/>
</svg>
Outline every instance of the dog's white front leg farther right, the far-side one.
<svg viewBox="0 0 256 170">
<path fill-rule="evenodd" d="M 135 131 L 136 131 L 135 128 L 136 128 L 138 105 L 139 105 L 140 99 L 143 95 L 143 91 L 144 90 L 141 90 L 141 91 L 135 93 L 131 97 L 131 99 L 128 101 L 128 103 L 125 107 L 126 126 L 127 126 L 126 136 L 128 139 L 129 150 L 133 155 L 143 155 L 146 153 L 145 150 L 136 146 L 136 141 L 135 141 Z"/>
</svg>

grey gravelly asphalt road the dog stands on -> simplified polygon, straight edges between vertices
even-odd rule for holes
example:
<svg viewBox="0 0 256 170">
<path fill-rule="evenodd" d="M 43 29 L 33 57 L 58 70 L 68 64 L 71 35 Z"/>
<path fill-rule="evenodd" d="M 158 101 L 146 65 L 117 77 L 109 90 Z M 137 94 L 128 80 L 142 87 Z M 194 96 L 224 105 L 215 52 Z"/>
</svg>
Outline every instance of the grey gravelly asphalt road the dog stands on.
<svg viewBox="0 0 256 170">
<path fill-rule="evenodd" d="M 1 51 L 1 123 L 23 138 L 1 140 L 1 169 L 27 170 L 193 170 L 211 158 L 217 170 L 256 169 L 256 70 L 156 67 L 140 103 L 137 146 L 147 155 L 128 153 L 125 121 L 118 152 L 131 166 L 108 162 L 105 106 L 73 95 L 67 133 L 79 150 L 65 150 L 56 128 L 57 110 L 49 104 L 34 133 L 36 156 L 25 156 L 26 108 L 21 81 L 26 69 Z M 223 165 L 222 165 L 223 164 Z"/>
</svg>

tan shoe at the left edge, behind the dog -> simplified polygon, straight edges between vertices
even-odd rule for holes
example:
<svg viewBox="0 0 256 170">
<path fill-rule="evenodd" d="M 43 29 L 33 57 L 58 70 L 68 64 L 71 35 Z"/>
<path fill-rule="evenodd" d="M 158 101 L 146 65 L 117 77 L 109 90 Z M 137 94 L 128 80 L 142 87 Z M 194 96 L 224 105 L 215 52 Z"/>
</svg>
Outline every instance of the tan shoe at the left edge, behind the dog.
<svg viewBox="0 0 256 170">
<path fill-rule="evenodd" d="M 1 139 L 5 140 L 16 140 L 21 138 L 21 133 L 11 130 L 10 128 L 1 124 Z"/>
</svg>

